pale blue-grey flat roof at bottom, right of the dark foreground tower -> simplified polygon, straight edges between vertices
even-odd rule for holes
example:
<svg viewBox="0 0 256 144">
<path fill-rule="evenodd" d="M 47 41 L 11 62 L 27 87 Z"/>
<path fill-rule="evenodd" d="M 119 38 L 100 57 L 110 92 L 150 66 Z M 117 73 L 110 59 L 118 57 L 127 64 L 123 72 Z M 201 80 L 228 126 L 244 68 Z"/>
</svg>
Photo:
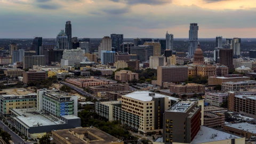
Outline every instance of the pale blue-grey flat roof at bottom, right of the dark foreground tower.
<svg viewBox="0 0 256 144">
<path fill-rule="evenodd" d="M 196 137 L 191 141 L 191 143 L 206 143 L 213 141 L 221 141 L 227 139 L 239 139 L 239 137 L 234 134 L 230 134 L 227 132 L 219 131 L 216 129 L 212 129 L 211 127 L 201 126 L 201 129 L 196 134 Z M 221 142 L 220 142 L 221 143 Z"/>
</svg>

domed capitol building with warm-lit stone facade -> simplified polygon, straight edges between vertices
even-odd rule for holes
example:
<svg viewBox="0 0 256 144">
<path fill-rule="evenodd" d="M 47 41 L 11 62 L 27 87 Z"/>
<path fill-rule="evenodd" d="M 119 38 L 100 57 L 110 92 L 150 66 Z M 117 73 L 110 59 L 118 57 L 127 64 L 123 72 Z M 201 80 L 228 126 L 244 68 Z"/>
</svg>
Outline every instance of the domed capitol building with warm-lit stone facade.
<svg viewBox="0 0 256 144">
<path fill-rule="evenodd" d="M 200 45 L 197 45 L 197 49 L 194 54 L 193 63 L 188 64 L 188 76 L 195 77 L 201 75 L 203 77 L 210 76 L 224 76 L 228 74 L 228 67 L 221 66 L 221 73 L 217 73 L 220 67 L 213 66 L 210 63 L 204 62 L 203 51 L 200 49 Z"/>
</svg>

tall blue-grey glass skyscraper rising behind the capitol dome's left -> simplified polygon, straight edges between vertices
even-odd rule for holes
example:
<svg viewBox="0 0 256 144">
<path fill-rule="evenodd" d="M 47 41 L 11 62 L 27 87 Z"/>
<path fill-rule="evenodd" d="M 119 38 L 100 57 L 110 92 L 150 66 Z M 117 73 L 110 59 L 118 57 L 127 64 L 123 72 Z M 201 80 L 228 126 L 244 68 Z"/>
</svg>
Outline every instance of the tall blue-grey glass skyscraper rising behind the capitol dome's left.
<svg viewBox="0 0 256 144">
<path fill-rule="evenodd" d="M 188 56 L 193 57 L 198 45 L 198 26 L 197 23 L 190 23 L 189 27 L 189 47 Z"/>
</svg>

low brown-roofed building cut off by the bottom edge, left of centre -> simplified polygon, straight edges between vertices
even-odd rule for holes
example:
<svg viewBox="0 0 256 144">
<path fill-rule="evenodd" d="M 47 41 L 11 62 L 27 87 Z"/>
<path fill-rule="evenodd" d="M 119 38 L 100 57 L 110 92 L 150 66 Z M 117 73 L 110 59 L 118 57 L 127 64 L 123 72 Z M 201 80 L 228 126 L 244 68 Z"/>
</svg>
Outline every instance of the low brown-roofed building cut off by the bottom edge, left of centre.
<svg viewBox="0 0 256 144">
<path fill-rule="evenodd" d="M 108 133 L 105 133 L 95 127 L 79 127 L 76 129 L 66 129 L 52 131 L 52 137 L 54 143 L 62 144 L 123 144 L 122 140 L 119 140 Z"/>
</svg>

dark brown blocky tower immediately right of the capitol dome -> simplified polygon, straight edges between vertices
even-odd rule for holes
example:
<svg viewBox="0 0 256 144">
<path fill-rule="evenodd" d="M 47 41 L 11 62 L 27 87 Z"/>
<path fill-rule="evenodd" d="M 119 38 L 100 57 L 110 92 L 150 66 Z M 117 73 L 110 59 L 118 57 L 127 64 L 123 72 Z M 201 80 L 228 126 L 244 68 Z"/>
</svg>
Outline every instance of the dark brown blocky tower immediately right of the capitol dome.
<svg viewBox="0 0 256 144">
<path fill-rule="evenodd" d="M 234 69 L 233 65 L 233 50 L 232 49 L 221 49 L 219 52 L 221 65 L 225 65 L 229 70 Z"/>
</svg>

